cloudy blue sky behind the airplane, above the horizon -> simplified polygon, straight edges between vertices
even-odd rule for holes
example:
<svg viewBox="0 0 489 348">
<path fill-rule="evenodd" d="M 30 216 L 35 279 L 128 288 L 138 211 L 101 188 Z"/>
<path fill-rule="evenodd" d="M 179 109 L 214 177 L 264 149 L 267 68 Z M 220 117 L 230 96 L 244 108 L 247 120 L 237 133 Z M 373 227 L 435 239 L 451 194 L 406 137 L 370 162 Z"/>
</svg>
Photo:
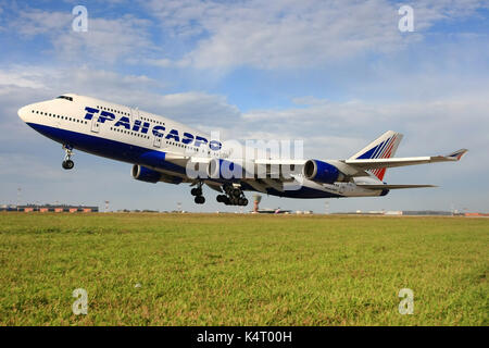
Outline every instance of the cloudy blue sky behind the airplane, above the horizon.
<svg viewBox="0 0 489 348">
<path fill-rule="evenodd" d="M 73 29 L 76 5 L 87 30 Z M 413 9 L 401 32 L 399 9 Z M 147 184 L 130 165 L 75 152 L 17 110 L 64 92 L 164 115 L 225 139 L 304 141 L 305 159 L 344 159 L 384 132 L 398 157 L 469 152 L 460 163 L 390 169 L 381 198 L 263 197 L 262 208 L 489 211 L 489 1 L 0 0 L 0 203 L 237 211 L 196 206 L 188 185 Z M 18 188 L 21 188 L 18 195 Z M 252 194 L 248 192 L 252 200 Z M 251 204 L 248 209 L 251 208 Z"/>
</svg>

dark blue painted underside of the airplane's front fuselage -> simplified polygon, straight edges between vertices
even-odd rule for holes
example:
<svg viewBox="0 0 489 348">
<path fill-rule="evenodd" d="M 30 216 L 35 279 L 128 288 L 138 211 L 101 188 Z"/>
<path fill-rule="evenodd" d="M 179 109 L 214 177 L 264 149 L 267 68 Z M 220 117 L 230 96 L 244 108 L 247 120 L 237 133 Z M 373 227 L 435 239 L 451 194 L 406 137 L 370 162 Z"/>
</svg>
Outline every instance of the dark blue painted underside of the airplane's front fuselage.
<svg viewBox="0 0 489 348">
<path fill-rule="evenodd" d="M 109 159 L 140 164 L 149 167 L 158 167 L 172 171 L 174 173 L 185 174 L 185 167 L 165 161 L 165 152 L 150 150 L 136 145 L 111 140 L 78 132 L 66 130 L 62 128 L 50 127 L 36 123 L 27 123 L 35 130 L 43 136 L 71 147 L 105 157 Z"/>
</svg>

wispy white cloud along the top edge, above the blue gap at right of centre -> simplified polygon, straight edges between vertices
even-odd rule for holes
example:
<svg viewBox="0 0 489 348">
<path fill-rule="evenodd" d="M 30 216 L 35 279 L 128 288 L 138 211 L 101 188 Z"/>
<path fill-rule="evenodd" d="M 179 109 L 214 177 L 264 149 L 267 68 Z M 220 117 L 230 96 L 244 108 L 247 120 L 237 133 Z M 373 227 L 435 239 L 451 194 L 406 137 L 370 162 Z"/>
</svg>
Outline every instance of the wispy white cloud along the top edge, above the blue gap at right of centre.
<svg viewBox="0 0 489 348">
<path fill-rule="evenodd" d="M 400 4 L 374 1 L 150 1 L 164 33 L 196 47 L 176 66 L 226 70 L 249 65 L 324 65 L 368 53 L 399 51 L 437 21 L 474 13 L 482 1 L 412 1 L 416 32 L 398 29 Z M 170 61 L 154 61 L 167 66 Z"/>
</svg>

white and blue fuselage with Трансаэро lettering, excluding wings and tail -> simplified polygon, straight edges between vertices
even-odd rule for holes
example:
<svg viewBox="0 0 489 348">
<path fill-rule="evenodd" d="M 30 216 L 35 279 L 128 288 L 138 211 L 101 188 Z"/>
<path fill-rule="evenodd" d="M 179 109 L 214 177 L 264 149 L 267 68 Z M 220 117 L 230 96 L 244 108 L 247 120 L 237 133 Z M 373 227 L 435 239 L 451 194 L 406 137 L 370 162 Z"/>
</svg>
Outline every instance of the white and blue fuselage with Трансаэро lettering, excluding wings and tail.
<svg viewBox="0 0 489 348">
<path fill-rule="evenodd" d="M 180 182 L 192 182 L 176 158 L 228 158 L 218 139 L 173 120 L 112 102 L 78 95 L 33 103 L 20 117 L 42 135 L 70 148 L 156 170 Z M 176 159 L 176 160 L 175 160 Z M 354 178 L 356 181 L 356 178 Z M 359 178 L 375 182 L 372 176 Z M 384 196 L 350 183 L 319 184 L 298 175 L 299 189 L 266 192 L 292 198 Z M 291 184 L 284 183 L 284 187 Z M 296 183 L 297 186 L 297 183 Z M 243 189 L 256 186 L 243 183 Z"/>
</svg>

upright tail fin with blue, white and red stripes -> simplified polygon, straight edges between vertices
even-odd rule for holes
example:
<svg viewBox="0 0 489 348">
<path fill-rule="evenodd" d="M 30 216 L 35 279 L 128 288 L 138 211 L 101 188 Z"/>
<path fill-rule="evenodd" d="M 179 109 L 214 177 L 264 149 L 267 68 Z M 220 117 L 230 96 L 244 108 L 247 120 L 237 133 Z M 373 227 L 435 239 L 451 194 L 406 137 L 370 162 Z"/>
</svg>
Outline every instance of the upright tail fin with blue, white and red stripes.
<svg viewBox="0 0 489 348">
<path fill-rule="evenodd" d="M 394 156 L 401 140 L 402 134 L 388 130 L 353 154 L 350 160 L 389 159 Z M 384 175 L 386 175 L 385 167 L 371 170 L 369 172 L 377 176 L 379 181 L 383 181 Z"/>
</svg>

